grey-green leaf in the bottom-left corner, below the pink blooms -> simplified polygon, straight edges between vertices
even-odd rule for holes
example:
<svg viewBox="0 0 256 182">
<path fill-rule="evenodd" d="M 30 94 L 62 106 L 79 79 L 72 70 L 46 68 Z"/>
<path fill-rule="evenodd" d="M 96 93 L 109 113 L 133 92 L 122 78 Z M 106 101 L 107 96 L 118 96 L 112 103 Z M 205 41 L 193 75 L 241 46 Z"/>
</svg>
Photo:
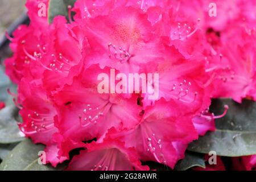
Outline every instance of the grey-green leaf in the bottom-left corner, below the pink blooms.
<svg viewBox="0 0 256 182">
<path fill-rule="evenodd" d="M 20 142 L 5 160 L 0 164 L 0 170 L 22 171 L 39 158 L 38 152 L 42 151 L 42 144 L 34 144 L 29 139 Z"/>
</svg>

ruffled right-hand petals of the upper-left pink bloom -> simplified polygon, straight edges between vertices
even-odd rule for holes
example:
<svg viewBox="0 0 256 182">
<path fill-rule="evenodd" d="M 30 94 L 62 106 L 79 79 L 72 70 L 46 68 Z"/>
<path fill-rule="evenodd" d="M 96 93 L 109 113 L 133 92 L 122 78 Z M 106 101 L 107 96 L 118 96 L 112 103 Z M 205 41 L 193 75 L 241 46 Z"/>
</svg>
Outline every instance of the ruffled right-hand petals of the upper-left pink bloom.
<svg viewBox="0 0 256 182">
<path fill-rule="evenodd" d="M 38 60 L 45 68 L 42 82 L 48 92 L 70 84 L 81 70 L 83 45 L 73 34 L 75 26 L 69 27 L 63 16 L 56 16 L 48 28 L 47 36 L 51 42 Z"/>
</svg>

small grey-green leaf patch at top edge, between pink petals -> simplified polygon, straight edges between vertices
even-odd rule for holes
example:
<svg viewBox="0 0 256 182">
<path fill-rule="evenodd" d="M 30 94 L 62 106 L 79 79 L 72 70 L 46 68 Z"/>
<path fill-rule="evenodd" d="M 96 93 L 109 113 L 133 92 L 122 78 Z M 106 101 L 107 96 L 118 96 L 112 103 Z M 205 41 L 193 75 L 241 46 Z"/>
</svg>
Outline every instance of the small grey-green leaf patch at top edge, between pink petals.
<svg viewBox="0 0 256 182">
<path fill-rule="evenodd" d="M 73 6 L 76 0 L 50 0 L 48 10 L 48 22 L 51 23 L 57 15 L 66 16 L 68 19 L 68 5 Z"/>
</svg>

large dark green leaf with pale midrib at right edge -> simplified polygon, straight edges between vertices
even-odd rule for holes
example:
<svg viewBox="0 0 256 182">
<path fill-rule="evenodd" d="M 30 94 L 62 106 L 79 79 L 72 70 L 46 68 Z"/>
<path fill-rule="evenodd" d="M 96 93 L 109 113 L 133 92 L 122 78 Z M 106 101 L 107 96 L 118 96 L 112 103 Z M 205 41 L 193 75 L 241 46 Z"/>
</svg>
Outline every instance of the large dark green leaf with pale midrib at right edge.
<svg viewBox="0 0 256 182">
<path fill-rule="evenodd" d="M 215 115 L 229 106 L 225 117 L 216 119 L 215 132 L 209 132 L 189 144 L 188 150 L 208 154 L 216 151 L 220 156 L 256 154 L 256 102 L 243 100 L 238 104 L 230 99 L 213 100 L 210 107 Z"/>
</svg>

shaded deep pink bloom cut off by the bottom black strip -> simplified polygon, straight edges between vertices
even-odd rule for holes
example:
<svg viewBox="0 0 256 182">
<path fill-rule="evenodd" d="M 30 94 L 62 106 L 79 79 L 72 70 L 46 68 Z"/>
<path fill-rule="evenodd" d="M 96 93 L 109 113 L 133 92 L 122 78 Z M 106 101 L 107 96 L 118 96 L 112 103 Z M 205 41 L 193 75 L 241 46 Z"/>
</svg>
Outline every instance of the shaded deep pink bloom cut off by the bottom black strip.
<svg viewBox="0 0 256 182">
<path fill-rule="evenodd" d="M 115 139 L 104 139 L 102 143 L 86 144 L 69 163 L 67 170 L 77 171 L 146 171 L 134 148 L 126 148 L 124 143 Z"/>
</svg>

